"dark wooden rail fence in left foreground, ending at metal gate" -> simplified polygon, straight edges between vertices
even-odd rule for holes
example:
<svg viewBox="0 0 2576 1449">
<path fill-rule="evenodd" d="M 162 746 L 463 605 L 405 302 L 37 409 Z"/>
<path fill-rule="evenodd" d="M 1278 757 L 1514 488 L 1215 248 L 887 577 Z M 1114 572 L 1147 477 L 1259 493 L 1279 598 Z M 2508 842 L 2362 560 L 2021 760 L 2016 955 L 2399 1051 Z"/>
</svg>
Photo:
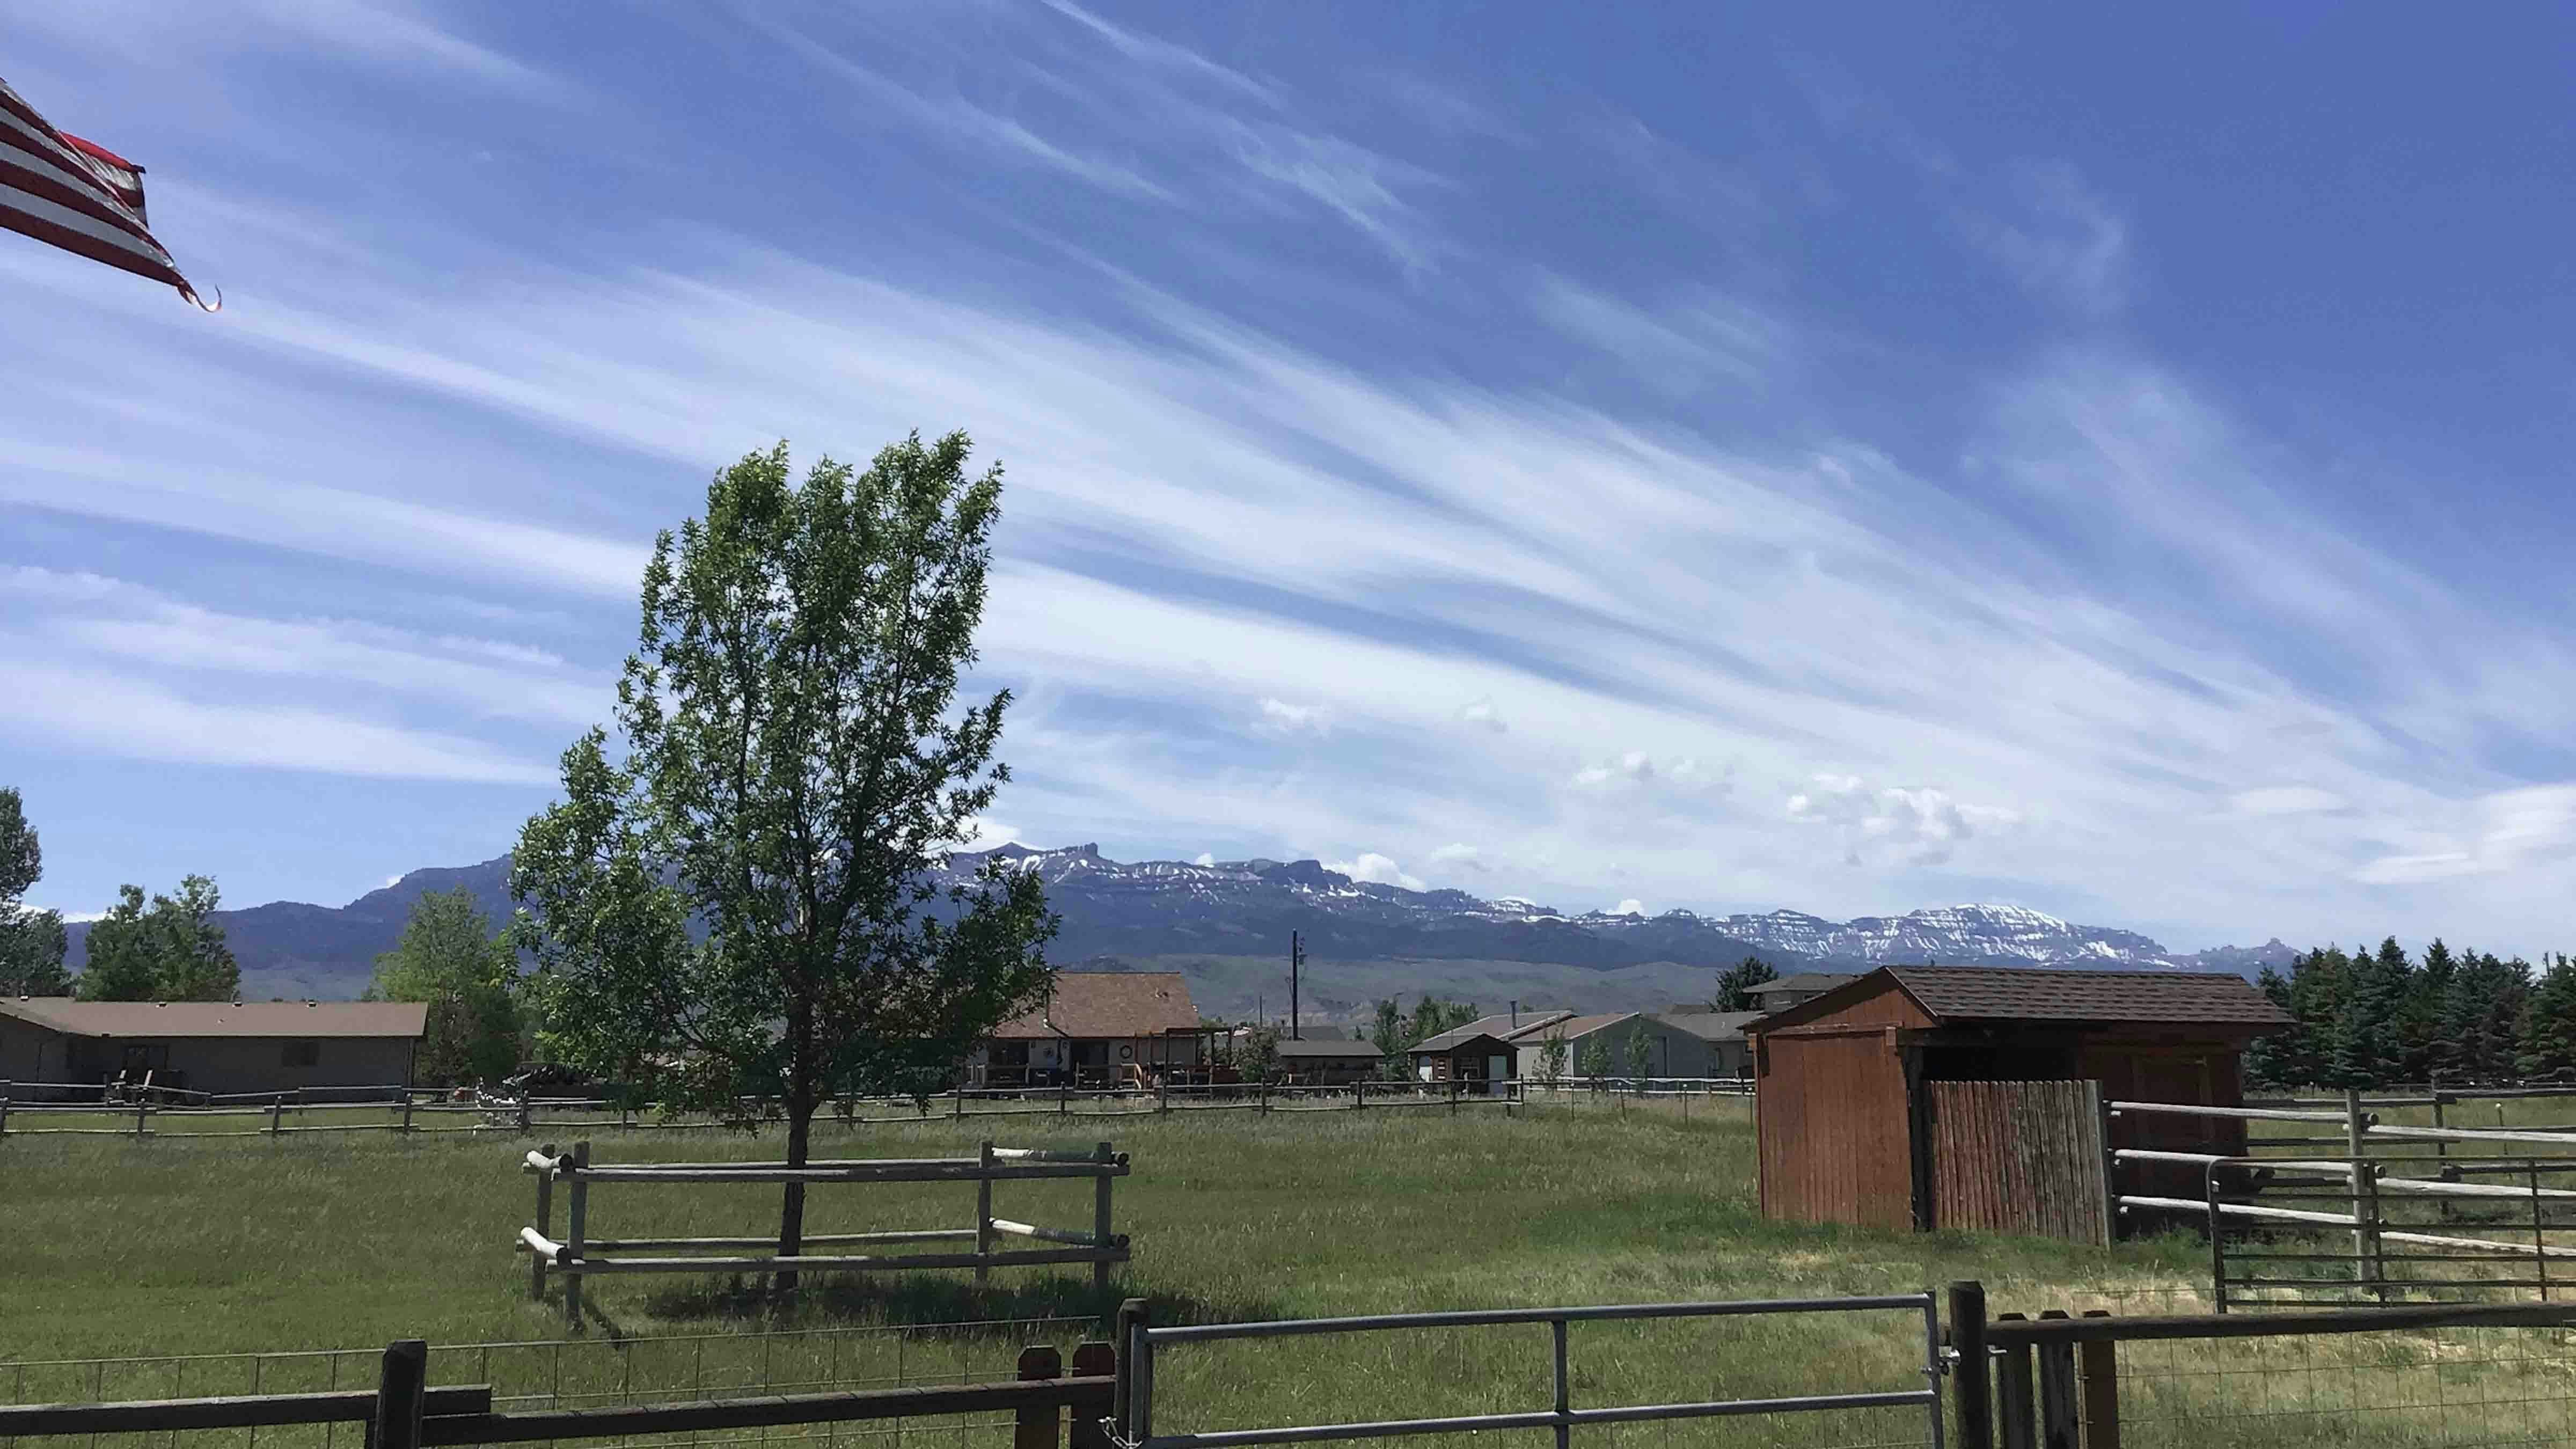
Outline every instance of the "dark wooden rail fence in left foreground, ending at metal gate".
<svg viewBox="0 0 2576 1449">
<path fill-rule="evenodd" d="M 1108 1343 L 1082 1343 L 1074 1348 L 1074 1372 L 1069 1377 L 1056 1348 L 1030 1346 L 1020 1351 L 1015 1379 L 989 1385 L 495 1413 L 489 1385 L 428 1387 L 428 1343 L 407 1338 L 384 1348 L 376 1390 L 0 1405 L 0 1441 L 33 1434 L 178 1434 L 289 1423 L 366 1423 L 371 1449 L 430 1449 L 440 1444 L 538 1444 L 556 1439 L 623 1439 L 641 1434 L 1007 1413 L 1012 1415 L 1012 1449 L 1108 1449 L 1108 1418 L 1118 1392 L 1115 1348 Z"/>
</svg>

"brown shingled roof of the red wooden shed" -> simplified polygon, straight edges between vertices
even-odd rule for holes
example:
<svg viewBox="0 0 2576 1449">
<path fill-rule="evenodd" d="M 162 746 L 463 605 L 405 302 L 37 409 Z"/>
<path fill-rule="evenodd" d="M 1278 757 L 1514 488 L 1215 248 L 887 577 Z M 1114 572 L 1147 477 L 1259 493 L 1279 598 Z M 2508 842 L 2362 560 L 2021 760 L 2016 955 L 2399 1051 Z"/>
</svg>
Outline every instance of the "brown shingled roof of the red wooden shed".
<svg viewBox="0 0 2576 1449">
<path fill-rule="evenodd" d="M 1772 1031 L 1904 990 L 1940 1024 L 2053 1021 L 2099 1026 L 2228 1026 L 2267 1031 L 2290 1016 L 2231 972 L 2050 972 L 2025 967 L 1880 967 L 1754 1024 Z"/>
</svg>

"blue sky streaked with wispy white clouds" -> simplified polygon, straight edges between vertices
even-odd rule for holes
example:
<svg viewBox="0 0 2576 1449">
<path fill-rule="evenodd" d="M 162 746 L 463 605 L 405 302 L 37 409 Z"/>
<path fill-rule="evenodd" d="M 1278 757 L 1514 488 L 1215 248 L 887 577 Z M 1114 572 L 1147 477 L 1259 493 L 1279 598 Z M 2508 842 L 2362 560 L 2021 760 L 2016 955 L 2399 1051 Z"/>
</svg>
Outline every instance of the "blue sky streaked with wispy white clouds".
<svg viewBox="0 0 2576 1449">
<path fill-rule="evenodd" d="M 227 304 L 0 235 L 41 905 L 502 851 L 716 467 L 969 428 L 992 838 L 2566 944 L 2566 15 L 41 10 Z"/>
</svg>

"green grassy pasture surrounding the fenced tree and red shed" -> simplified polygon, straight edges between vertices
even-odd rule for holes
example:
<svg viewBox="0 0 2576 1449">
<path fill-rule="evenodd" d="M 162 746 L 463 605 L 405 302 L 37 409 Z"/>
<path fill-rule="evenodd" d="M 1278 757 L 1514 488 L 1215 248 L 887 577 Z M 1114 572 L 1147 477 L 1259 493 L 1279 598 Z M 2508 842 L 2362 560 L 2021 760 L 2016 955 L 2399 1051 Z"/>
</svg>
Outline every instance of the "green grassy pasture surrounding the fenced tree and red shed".
<svg viewBox="0 0 2576 1449">
<path fill-rule="evenodd" d="M 1136 1261 L 1108 1297 L 1043 1269 L 997 1271 L 987 1287 L 966 1274 L 829 1279 L 793 1310 L 765 1302 L 757 1281 L 595 1279 L 592 1320 L 572 1348 L 549 1343 L 562 1338 L 562 1310 L 551 1292 L 528 1302 L 528 1263 L 510 1250 L 533 1204 L 520 1140 L 10 1137 L 0 1142 L 0 1397 L 240 1392 L 245 1372 L 265 1374 L 265 1390 L 327 1387 L 330 1377 L 366 1385 L 376 1348 L 410 1336 L 443 1346 L 438 1382 L 495 1382 L 531 1403 L 956 1382 L 1007 1374 L 1023 1341 L 1092 1336 L 1095 1315 L 1126 1294 L 1149 1297 L 1157 1323 L 1216 1323 L 1914 1292 L 1973 1276 L 1996 1310 L 2205 1307 L 2205 1256 L 2187 1240 L 2094 1250 L 1765 1222 L 1739 1101 L 1692 1104 L 1687 1119 L 1672 1106 L 930 1119 L 827 1127 L 822 1142 L 835 1155 L 963 1155 L 984 1134 L 1054 1147 L 1110 1137 L 1133 1152 L 1136 1173 L 1118 1183 L 1118 1227 L 1133 1235 Z M 719 1132 L 592 1137 L 600 1160 L 778 1150 L 775 1137 Z M 1010 1183 L 994 1212 L 1082 1227 L 1090 1183 Z M 971 1214 L 974 1189 L 958 1183 L 819 1189 L 809 1227 L 951 1227 Z M 590 1232 L 734 1235 L 773 1217 L 775 1189 L 762 1186 L 600 1183 Z M 1023 1323 L 920 1328 L 963 1320 Z M 2141 1428 L 2128 1441 L 2445 1444 L 2460 1405 L 2499 1387 L 2524 1418 L 2563 1415 L 2558 1395 L 2576 1390 L 2561 1382 L 2561 1359 L 2532 1356 L 2532 1338 L 2488 1348 L 2458 1336 L 2156 1346 L 2138 1356 L 2130 1397 Z M 322 1348 L 350 1354 L 258 1369 L 175 1359 Z M 59 1364 L 90 1356 L 162 1359 Z M 2517 1361 L 2501 1364 L 2506 1356 Z M 1922 1325 L 1901 1312 L 1577 1325 L 1571 1361 L 1577 1403 L 1595 1405 L 1906 1390 L 1922 1385 Z M 1546 1328 L 1175 1346 L 1159 1372 L 1159 1428 L 1543 1408 L 1546 1385 Z M 2398 1400 L 2450 1418 L 2357 1413 Z M 2228 1418 L 2208 1418 L 2213 1410 Z M 1584 1441 L 1914 1444 L 1922 1431 L 1919 1410 L 1875 1410 L 1638 1426 Z M 953 1441 L 989 1439 L 958 1428 Z"/>
</svg>

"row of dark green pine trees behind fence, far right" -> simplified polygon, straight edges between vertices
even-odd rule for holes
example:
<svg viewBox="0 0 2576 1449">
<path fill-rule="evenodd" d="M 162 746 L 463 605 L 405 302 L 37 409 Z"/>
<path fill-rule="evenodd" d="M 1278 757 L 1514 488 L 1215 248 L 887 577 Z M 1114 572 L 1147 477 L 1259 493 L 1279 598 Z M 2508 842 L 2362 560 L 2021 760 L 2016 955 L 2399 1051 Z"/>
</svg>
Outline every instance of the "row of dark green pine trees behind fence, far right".
<svg viewBox="0 0 2576 1449">
<path fill-rule="evenodd" d="M 2421 959 L 2391 936 L 2378 951 L 2321 946 L 2259 985 L 2295 1026 L 2254 1042 L 2264 1085 L 2380 1088 L 2576 1080 L 2576 962 L 2537 967 L 2439 938 Z"/>
</svg>

